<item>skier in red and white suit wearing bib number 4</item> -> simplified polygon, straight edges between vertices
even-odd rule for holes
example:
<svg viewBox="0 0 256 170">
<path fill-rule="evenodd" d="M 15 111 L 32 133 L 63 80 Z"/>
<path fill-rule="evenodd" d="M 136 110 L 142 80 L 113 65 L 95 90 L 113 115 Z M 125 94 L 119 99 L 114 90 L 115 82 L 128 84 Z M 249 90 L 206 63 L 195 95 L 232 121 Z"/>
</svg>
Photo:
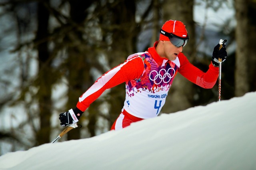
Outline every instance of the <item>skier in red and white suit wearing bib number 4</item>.
<svg viewBox="0 0 256 170">
<path fill-rule="evenodd" d="M 60 114 L 60 125 L 78 122 L 82 113 L 106 89 L 126 82 L 124 107 L 111 127 L 120 130 L 133 122 L 157 117 L 164 106 L 174 77 L 179 72 L 192 83 L 210 89 L 218 79 L 218 58 L 228 57 L 226 48 L 214 47 L 212 61 L 206 73 L 192 65 L 182 53 L 188 42 L 185 25 L 168 20 L 160 30 L 159 41 L 148 51 L 130 55 L 124 63 L 106 72 L 79 98 L 74 109 Z"/>
</svg>

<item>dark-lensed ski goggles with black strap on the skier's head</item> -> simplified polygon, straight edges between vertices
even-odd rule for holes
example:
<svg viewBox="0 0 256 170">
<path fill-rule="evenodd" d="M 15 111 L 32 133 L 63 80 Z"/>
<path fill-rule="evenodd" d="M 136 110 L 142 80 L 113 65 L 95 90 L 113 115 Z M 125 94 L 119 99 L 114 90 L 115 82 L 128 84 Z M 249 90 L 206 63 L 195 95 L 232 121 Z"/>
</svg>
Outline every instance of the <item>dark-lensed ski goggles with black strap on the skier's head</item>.
<svg viewBox="0 0 256 170">
<path fill-rule="evenodd" d="M 184 47 L 187 44 L 188 38 L 189 38 L 188 36 L 186 38 L 181 38 L 172 33 L 165 32 L 162 29 L 161 29 L 160 33 L 163 34 L 164 36 L 168 37 L 170 39 L 170 42 L 176 47 L 181 47 L 181 46 Z"/>
</svg>

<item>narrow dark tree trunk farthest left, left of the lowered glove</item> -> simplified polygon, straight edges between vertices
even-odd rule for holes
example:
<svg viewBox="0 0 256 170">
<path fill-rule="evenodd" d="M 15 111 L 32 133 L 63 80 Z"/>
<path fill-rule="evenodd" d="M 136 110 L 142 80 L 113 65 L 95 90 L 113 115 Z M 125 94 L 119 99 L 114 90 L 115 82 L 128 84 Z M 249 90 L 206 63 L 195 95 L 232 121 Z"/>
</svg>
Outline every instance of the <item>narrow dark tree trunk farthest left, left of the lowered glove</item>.
<svg viewBox="0 0 256 170">
<path fill-rule="evenodd" d="M 48 3 L 47 1 L 45 3 Z M 49 12 L 42 2 L 38 2 L 38 30 L 36 42 L 41 42 L 48 35 Z M 49 65 L 50 55 L 48 52 L 48 42 L 43 41 L 37 46 L 39 60 L 38 102 L 40 109 L 40 130 L 36 134 L 37 144 L 50 142 L 50 115 L 52 109 L 51 87 L 52 74 Z"/>
</svg>

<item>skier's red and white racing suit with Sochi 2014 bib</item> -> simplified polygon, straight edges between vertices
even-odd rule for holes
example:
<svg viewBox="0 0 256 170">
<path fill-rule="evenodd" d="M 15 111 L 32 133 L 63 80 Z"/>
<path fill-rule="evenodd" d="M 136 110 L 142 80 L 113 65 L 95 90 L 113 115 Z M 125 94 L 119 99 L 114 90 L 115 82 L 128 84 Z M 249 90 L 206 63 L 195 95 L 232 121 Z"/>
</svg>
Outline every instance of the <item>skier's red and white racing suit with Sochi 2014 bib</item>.
<svg viewBox="0 0 256 170">
<path fill-rule="evenodd" d="M 179 72 L 203 88 L 212 88 L 218 79 L 218 67 L 209 65 L 206 73 L 192 65 L 183 53 L 174 61 L 162 58 L 154 47 L 135 53 L 102 75 L 80 98 L 78 109 L 85 111 L 106 89 L 126 82 L 126 99 L 121 114 L 111 130 L 129 126 L 132 122 L 158 116 L 175 75 Z"/>
</svg>

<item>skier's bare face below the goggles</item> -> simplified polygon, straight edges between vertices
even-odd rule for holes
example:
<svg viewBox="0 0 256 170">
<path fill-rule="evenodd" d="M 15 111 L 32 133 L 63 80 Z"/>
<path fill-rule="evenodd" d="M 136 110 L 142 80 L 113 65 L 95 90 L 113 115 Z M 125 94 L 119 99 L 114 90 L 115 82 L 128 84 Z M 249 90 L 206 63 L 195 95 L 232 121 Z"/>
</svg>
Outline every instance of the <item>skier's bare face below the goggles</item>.
<svg viewBox="0 0 256 170">
<path fill-rule="evenodd" d="M 164 55 L 167 59 L 173 61 L 182 52 L 183 46 L 176 47 L 170 41 L 164 41 Z"/>
</svg>

